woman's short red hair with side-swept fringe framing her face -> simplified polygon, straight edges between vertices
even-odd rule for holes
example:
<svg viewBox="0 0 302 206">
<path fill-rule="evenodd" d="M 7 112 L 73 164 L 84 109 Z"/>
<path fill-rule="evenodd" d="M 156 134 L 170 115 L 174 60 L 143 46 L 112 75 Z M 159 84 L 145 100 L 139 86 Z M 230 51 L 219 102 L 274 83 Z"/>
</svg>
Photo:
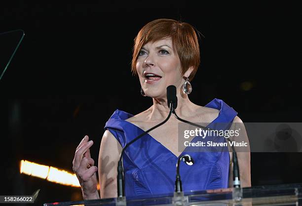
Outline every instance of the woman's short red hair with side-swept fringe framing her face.
<svg viewBox="0 0 302 206">
<path fill-rule="evenodd" d="M 189 67 L 193 71 L 189 76 L 191 81 L 195 76 L 199 63 L 200 53 L 198 38 L 194 28 L 185 22 L 179 22 L 173 19 L 156 19 L 146 24 L 134 39 L 131 71 L 137 75 L 136 61 L 143 45 L 149 41 L 154 42 L 171 37 L 174 52 L 179 56 L 182 75 L 186 73 Z"/>
</svg>

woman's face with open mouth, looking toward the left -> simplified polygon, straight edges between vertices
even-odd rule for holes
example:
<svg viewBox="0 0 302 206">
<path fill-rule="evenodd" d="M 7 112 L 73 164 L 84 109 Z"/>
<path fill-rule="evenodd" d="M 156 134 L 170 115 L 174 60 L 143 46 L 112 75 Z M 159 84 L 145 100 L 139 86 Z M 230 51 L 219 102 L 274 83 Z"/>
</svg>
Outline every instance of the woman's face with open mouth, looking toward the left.
<svg viewBox="0 0 302 206">
<path fill-rule="evenodd" d="M 167 86 L 178 88 L 183 81 L 180 59 L 173 51 L 171 38 L 143 45 L 136 70 L 144 92 L 152 98 L 165 98 Z"/>
</svg>

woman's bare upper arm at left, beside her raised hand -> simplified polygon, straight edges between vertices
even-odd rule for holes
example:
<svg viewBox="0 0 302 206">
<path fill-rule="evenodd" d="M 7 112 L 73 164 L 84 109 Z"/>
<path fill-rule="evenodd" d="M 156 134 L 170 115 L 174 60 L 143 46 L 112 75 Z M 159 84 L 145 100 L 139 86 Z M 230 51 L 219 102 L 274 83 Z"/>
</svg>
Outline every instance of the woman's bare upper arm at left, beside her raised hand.
<svg viewBox="0 0 302 206">
<path fill-rule="evenodd" d="M 117 197 L 117 163 L 121 151 L 122 147 L 120 143 L 109 130 L 106 130 L 101 141 L 98 165 L 102 199 Z"/>
</svg>

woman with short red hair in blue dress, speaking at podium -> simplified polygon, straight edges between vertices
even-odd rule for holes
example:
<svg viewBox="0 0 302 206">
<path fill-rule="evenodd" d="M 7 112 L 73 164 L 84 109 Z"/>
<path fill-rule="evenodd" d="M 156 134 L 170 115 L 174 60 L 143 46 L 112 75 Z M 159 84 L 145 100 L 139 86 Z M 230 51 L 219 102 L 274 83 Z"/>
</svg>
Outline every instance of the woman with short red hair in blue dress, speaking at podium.
<svg viewBox="0 0 302 206">
<path fill-rule="evenodd" d="M 76 149 L 73 169 L 80 182 L 83 198 L 99 199 L 117 196 L 116 167 L 125 144 L 166 119 L 169 108 L 166 87 L 177 88 L 176 113 L 194 123 L 231 123 L 236 129 L 242 121 L 225 102 L 214 99 L 205 107 L 189 100 L 190 81 L 199 66 L 196 33 L 188 23 L 157 19 L 145 25 L 135 38 L 132 72 L 138 75 L 141 93 L 153 99 L 153 105 L 135 116 L 116 110 L 105 125 L 99 169 L 94 166 L 88 137 Z M 178 121 L 173 115 L 162 126 L 152 130 L 125 150 L 123 166 L 126 196 L 170 193 L 174 189 L 175 164 L 186 151 L 178 151 Z M 248 142 L 244 127 L 242 138 Z M 224 138 L 225 139 L 225 138 Z M 225 140 L 226 141 L 226 140 Z M 186 152 L 187 153 L 187 152 Z M 231 153 L 190 153 L 195 164 L 182 166 L 183 189 L 204 190 L 232 186 Z M 238 153 L 242 187 L 251 186 L 250 153 Z M 99 172 L 100 193 L 96 171 Z"/>
</svg>

